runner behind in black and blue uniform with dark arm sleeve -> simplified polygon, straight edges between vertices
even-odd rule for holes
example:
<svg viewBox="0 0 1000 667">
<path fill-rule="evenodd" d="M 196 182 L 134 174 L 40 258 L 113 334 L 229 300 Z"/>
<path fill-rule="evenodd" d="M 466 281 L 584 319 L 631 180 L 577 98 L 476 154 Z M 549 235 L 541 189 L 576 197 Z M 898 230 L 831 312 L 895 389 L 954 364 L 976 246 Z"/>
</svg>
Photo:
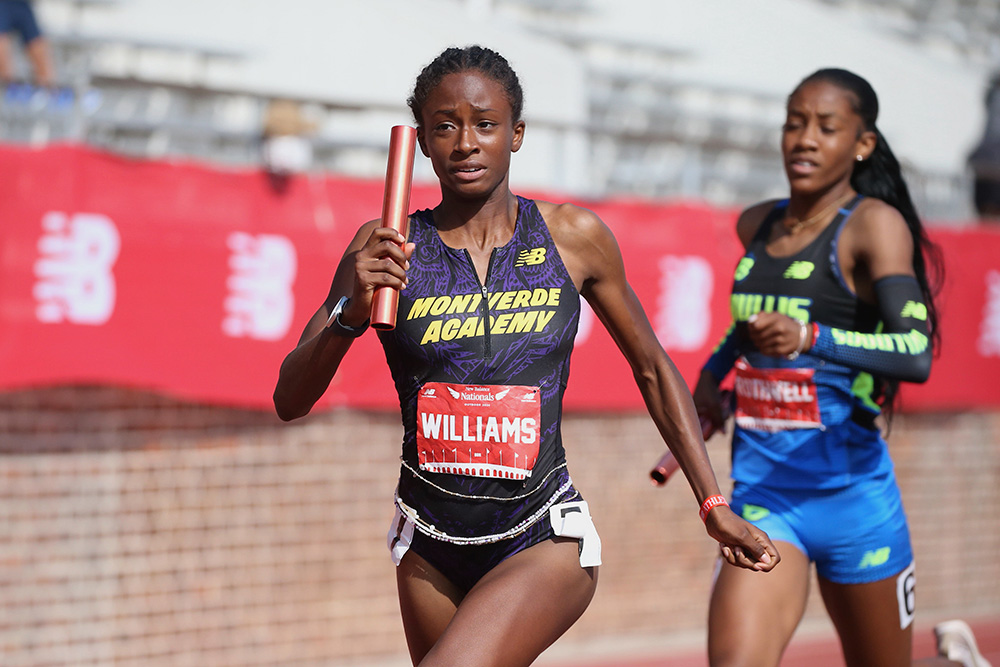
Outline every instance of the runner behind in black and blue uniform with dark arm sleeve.
<svg viewBox="0 0 1000 667">
<path fill-rule="evenodd" d="M 923 382 L 938 338 L 935 248 L 861 77 L 820 70 L 788 99 L 788 199 L 745 210 L 733 326 L 695 388 L 721 427 L 735 372 L 733 509 L 779 543 L 766 578 L 723 568 L 712 665 L 777 665 L 811 564 L 849 665 L 911 661 L 914 562 L 878 421 L 900 381 Z M 768 613 L 747 613 L 761 600 Z"/>
</svg>

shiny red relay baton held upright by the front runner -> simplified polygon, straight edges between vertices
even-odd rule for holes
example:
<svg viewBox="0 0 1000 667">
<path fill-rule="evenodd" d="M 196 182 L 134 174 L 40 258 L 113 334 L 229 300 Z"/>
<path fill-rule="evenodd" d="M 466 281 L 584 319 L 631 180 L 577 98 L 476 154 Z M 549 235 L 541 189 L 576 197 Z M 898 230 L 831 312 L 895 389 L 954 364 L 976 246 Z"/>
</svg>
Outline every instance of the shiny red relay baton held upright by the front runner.
<svg viewBox="0 0 1000 667">
<path fill-rule="evenodd" d="M 406 238 L 407 212 L 410 208 L 410 184 L 413 182 L 413 153 L 417 130 L 409 125 L 395 125 L 389 135 L 389 163 L 385 168 L 385 194 L 382 198 L 382 226 L 395 229 Z M 372 300 L 372 327 L 396 326 L 399 291 L 379 287 Z"/>
</svg>

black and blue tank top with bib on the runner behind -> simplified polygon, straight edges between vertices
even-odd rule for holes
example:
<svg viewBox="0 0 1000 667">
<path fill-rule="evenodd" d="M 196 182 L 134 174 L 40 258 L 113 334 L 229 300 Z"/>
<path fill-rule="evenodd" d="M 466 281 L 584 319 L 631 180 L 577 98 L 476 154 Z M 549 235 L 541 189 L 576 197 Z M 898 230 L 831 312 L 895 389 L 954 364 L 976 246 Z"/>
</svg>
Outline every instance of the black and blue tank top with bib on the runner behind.
<svg viewBox="0 0 1000 667">
<path fill-rule="evenodd" d="M 869 374 L 808 353 L 795 360 L 764 355 L 745 334 L 747 320 L 761 311 L 848 331 L 876 331 L 878 309 L 848 288 L 837 259 L 840 234 L 862 199 L 858 195 L 842 207 L 812 242 L 787 257 L 773 257 L 766 249 L 773 225 L 788 206 L 787 200 L 777 203 L 737 265 L 730 306 L 741 341 L 738 402 L 759 404 L 753 413 L 756 418 L 737 410 L 732 473 L 736 481 L 840 488 L 892 469 L 885 443 L 872 426 L 878 407 L 871 400 L 874 383 Z M 780 407 L 775 407 L 775 396 Z M 773 420 L 763 416 L 788 406 L 795 408 L 794 414 Z"/>
</svg>

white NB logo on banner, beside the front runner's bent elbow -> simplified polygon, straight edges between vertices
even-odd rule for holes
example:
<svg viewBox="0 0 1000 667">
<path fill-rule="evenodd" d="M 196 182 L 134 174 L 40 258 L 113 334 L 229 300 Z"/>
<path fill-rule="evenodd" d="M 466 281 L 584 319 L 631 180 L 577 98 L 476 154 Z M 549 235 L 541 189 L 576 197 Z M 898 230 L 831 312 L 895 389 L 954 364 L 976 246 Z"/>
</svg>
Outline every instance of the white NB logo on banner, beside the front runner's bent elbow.
<svg viewBox="0 0 1000 667">
<path fill-rule="evenodd" d="M 295 246 L 277 234 L 244 232 L 230 234 L 227 245 L 230 274 L 222 331 L 233 338 L 284 338 L 295 314 Z"/>
</svg>

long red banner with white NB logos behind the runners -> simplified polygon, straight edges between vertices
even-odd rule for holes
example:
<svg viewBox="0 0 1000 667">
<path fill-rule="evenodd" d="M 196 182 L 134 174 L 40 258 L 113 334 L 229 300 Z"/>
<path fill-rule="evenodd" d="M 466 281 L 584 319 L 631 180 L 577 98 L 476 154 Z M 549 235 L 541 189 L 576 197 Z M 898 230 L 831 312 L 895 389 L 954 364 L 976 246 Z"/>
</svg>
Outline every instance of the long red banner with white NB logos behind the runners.
<svg viewBox="0 0 1000 667">
<path fill-rule="evenodd" d="M 411 208 L 438 195 L 436 185 L 416 185 Z M 343 248 L 381 204 L 377 180 L 298 177 L 279 190 L 252 170 L 2 147 L 0 389 L 114 384 L 270 409 L 281 360 Z M 653 328 L 693 380 L 729 324 L 735 211 L 583 205 L 614 231 Z M 944 346 L 931 380 L 904 390 L 904 408 L 1000 405 L 1000 231 L 933 237 L 948 266 Z M 397 409 L 373 333 L 355 343 L 321 406 Z M 587 308 L 566 407 L 644 409 Z"/>
</svg>

